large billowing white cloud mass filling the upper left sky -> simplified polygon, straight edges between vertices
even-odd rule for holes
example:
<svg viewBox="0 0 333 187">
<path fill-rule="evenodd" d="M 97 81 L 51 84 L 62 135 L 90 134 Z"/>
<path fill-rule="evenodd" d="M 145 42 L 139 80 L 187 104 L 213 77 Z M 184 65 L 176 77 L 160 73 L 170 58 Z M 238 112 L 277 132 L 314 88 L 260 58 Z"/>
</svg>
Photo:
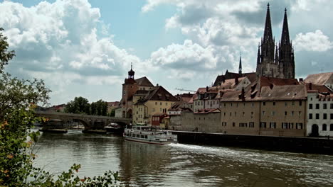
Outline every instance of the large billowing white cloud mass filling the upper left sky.
<svg viewBox="0 0 333 187">
<path fill-rule="evenodd" d="M 26 73 L 72 72 L 83 79 L 124 77 L 131 62 L 142 63 L 117 47 L 112 36 L 97 37 L 97 26 L 102 24 L 103 35 L 110 26 L 100 21 L 99 8 L 92 8 L 87 0 L 42 1 L 31 7 L 4 1 L 0 17 L 4 35 L 16 51 L 11 66 L 29 70 Z"/>
</svg>

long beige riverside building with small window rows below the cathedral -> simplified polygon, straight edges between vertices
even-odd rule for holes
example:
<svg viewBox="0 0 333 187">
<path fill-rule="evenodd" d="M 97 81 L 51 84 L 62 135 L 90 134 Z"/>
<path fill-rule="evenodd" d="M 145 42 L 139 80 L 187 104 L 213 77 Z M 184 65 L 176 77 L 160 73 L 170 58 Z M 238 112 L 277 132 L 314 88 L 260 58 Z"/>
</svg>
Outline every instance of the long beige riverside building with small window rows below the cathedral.
<svg viewBox="0 0 333 187">
<path fill-rule="evenodd" d="M 296 79 L 260 77 L 242 91 L 223 94 L 223 132 L 304 137 L 306 99 L 306 87 Z"/>
</svg>

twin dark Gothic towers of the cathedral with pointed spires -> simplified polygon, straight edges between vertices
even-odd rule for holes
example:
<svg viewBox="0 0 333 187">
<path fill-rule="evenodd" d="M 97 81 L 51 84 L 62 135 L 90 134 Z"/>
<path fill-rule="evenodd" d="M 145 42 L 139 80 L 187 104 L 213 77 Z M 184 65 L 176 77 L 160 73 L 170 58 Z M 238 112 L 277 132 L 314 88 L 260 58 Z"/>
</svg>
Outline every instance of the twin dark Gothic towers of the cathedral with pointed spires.
<svg viewBox="0 0 333 187">
<path fill-rule="evenodd" d="M 281 40 L 275 44 L 270 22 L 270 4 L 267 6 L 264 35 L 258 46 L 257 76 L 295 79 L 294 50 L 289 38 L 287 9 L 283 18 Z"/>
</svg>

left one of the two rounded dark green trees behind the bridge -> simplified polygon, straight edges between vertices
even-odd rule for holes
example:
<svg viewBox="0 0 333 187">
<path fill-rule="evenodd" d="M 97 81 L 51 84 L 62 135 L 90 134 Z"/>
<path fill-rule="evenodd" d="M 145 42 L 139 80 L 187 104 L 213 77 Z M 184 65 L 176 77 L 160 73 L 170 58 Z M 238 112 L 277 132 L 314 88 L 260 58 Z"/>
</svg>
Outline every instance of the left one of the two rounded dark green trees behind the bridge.
<svg viewBox="0 0 333 187">
<path fill-rule="evenodd" d="M 90 104 L 87 98 L 75 97 L 74 101 L 66 104 L 65 113 L 90 114 Z"/>
</svg>

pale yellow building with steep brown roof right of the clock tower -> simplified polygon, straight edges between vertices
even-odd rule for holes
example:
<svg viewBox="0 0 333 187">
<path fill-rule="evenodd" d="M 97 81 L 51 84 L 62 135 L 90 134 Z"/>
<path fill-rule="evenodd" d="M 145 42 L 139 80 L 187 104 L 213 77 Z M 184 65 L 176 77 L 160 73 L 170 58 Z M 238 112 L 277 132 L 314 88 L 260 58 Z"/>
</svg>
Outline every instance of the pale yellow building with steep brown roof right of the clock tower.
<svg viewBox="0 0 333 187">
<path fill-rule="evenodd" d="M 152 115 L 167 113 L 177 99 L 162 86 L 153 89 L 138 90 L 133 96 L 133 124 L 145 123 L 152 125 Z"/>
</svg>

